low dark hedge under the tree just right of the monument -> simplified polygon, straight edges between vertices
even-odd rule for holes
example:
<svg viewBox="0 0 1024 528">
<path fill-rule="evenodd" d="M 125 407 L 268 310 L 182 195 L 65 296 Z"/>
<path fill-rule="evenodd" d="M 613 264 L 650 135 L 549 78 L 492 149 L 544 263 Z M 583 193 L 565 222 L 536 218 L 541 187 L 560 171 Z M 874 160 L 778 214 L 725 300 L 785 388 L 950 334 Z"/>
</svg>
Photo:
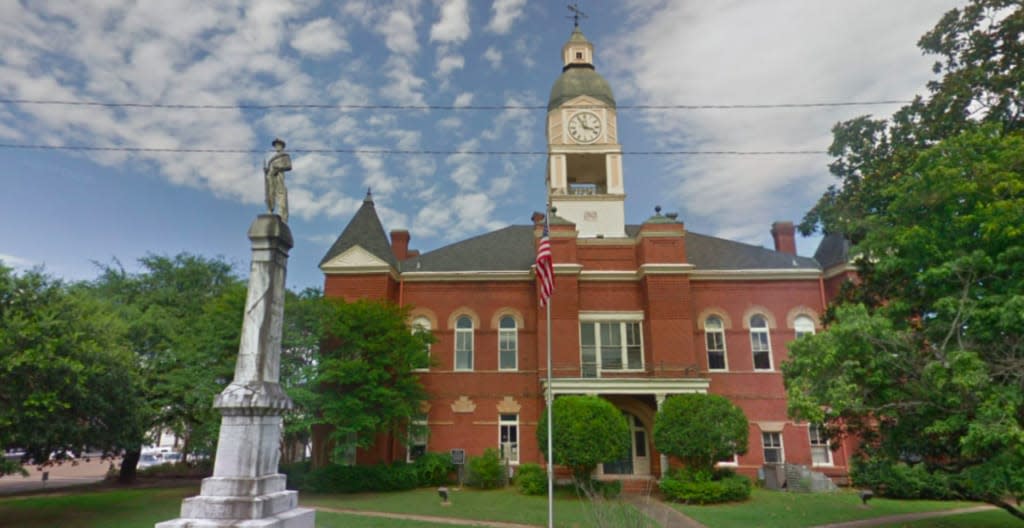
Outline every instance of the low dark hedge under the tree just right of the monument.
<svg viewBox="0 0 1024 528">
<path fill-rule="evenodd" d="M 313 470 L 302 483 L 303 491 L 356 493 L 360 491 L 402 491 L 419 485 L 416 467 L 395 463 L 377 466 L 330 466 Z"/>
</svg>

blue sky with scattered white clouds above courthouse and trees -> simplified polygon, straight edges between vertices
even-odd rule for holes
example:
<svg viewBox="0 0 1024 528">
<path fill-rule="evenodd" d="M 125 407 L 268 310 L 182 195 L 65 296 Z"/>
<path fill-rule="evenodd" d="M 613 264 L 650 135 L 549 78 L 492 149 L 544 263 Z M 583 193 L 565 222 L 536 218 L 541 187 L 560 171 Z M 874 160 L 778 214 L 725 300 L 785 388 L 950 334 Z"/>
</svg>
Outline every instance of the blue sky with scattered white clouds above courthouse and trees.
<svg viewBox="0 0 1024 528">
<path fill-rule="evenodd" d="M 898 104 L 758 109 L 625 106 L 907 100 L 935 57 L 915 43 L 954 0 L 585 0 L 581 29 L 614 91 L 626 214 L 771 247 L 834 183 L 829 158 L 630 156 L 817 150 L 838 122 Z M 543 108 L 572 31 L 565 0 L 0 0 L 0 260 L 69 280 L 147 254 L 248 270 L 260 169 L 293 153 L 289 288 L 373 191 L 386 230 L 423 252 L 545 204 Z M 156 108 L 10 102 L 219 105 Z M 329 108 L 245 108 L 327 104 Z M 343 105 L 437 105 L 446 109 Z M 469 107 L 466 107 L 469 106 Z M 499 106 L 474 109 L 472 106 Z M 511 106 L 511 107 L 510 107 Z M 519 106 L 519 107 L 517 107 Z M 10 145 L 241 149 L 75 151 Z M 465 151 L 526 151 L 478 156 Z M 798 239 L 813 255 L 819 238 Z"/>
</svg>

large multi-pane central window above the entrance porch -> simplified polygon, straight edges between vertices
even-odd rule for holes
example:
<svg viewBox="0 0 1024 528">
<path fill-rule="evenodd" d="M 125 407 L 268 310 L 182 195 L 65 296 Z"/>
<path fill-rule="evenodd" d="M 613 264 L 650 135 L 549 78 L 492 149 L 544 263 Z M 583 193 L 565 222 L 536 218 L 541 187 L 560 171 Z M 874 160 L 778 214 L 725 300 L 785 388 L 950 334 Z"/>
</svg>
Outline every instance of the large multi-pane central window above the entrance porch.
<svg viewBox="0 0 1024 528">
<path fill-rule="evenodd" d="M 643 369 L 640 321 L 581 322 L 580 345 L 584 378 L 600 370 Z"/>
</svg>

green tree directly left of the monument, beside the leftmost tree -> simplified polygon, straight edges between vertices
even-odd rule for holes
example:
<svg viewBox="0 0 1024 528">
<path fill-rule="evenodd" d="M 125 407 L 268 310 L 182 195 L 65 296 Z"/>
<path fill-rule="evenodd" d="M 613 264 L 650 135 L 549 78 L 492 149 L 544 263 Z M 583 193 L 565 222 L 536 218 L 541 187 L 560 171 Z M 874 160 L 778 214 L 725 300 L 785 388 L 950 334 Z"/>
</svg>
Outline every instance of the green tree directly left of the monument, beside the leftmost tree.
<svg viewBox="0 0 1024 528">
<path fill-rule="evenodd" d="M 219 415 L 213 397 L 231 380 L 245 306 L 245 283 L 221 259 L 150 255 L 141 271 L 115 262 L 88 284 L 127 326 L 134 368 L 142 378 L 142 433 L 121 467 L 134 479 L 141 445 L 157 429 L 184 440 L 183 451 L 212 453 Z"/>
</svg>

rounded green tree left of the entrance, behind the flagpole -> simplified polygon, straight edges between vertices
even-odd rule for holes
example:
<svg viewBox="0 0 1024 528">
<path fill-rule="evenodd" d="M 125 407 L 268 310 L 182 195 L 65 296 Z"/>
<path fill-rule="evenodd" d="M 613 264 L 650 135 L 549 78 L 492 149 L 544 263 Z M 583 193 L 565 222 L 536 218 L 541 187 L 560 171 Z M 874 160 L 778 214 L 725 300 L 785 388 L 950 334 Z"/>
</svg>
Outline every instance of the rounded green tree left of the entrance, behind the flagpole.
<svg viewBox="0 0 1024 528">
<path fill-rule="evenodd" d="M 630 450 L 630 426 L 608 400 L 597 396 L 559 396 L 552 403 L 552 447 L 555 464 L 572 472 L 577 483 L 589 483 L 598 464 Z M 537 443 L 548 454 L 548 409 L 537 426 Z"/>
</svg>

